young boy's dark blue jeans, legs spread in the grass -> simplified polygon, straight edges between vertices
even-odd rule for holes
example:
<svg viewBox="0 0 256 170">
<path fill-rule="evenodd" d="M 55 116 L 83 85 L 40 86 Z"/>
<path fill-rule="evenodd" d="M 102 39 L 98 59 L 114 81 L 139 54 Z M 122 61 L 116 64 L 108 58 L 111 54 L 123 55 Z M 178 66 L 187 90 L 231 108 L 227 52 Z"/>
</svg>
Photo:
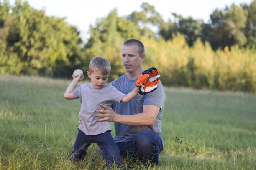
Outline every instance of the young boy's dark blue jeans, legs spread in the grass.
<svg viewBox="0 0 256 170">
<path fill-rule="evenodd" d="M 71 153 L 72 159 L 83 160 L 86 155 L 87 148 L 92 143 L 96 143 L 100 147 L 108 169 L 113 169 L 114 167 L 120 167 L 120 169 L 123 169 L 118 146 L 115 144 L 115 141 L 109 131 L 99 135 L 85 135 L 81 130 L 78 130 L 74 150 Z"/>
</svg>

